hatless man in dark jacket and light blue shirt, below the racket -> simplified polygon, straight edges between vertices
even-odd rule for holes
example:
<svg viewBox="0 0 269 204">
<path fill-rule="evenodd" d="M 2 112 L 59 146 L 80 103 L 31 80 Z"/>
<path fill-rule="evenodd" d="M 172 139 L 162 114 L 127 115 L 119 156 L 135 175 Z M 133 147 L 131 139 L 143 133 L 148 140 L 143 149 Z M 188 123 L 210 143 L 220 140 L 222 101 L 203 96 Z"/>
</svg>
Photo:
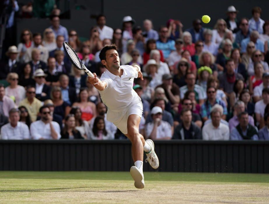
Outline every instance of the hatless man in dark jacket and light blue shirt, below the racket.
<svg viewBox="0 0 269 204">
<path fill-rule="evenodd" d="M 66 74 L 62 74 L 59 78 L 61 93 L 63 100 L 72 105 L 77 101 L 76 89 L 73 87 L 69 87 L 69 77 Z"/>
</svg>

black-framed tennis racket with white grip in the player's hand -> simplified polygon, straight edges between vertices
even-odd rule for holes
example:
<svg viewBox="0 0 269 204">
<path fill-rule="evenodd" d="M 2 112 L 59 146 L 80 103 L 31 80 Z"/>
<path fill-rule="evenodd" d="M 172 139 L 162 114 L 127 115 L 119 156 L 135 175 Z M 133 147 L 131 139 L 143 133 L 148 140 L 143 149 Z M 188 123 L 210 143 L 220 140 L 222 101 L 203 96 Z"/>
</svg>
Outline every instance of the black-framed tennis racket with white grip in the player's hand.
<svg viewBox="0 0 269 204">
<path fill-rule="evenodd" d="M 83 70 L 87 73 L 89 77 L 94 77 L 92 72 L 90 72 L 86 66 L 80 61 L 77 53 L 75 50 L 67 43 L 63 42 L 64 52 L 66 53 L 67 57 L 70 59 L 72 64 L 77 68 L 78 70 Z"/>
</svg>

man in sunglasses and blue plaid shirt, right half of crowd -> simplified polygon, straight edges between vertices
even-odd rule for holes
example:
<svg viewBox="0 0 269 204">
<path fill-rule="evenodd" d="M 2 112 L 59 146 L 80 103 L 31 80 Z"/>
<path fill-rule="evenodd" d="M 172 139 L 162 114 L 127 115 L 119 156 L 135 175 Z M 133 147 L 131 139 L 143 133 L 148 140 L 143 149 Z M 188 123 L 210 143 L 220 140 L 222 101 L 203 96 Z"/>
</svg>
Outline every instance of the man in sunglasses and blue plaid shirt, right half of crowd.
<svg viewBox="0 0 269 204">
<path fill-rule="evenodd" d="M 203 122 L 210 118 L 211 109 L 215 104 L 219 104 L 223 107 L 224 112 L 221 115 L 221 118 L 225 120 L 226 115 L 228 114 L 227 107 L 224 101 L 218 100 L 216 98 L 216 89 L 214 87 L 207 87 L 206 93 L 207 100 L 201 107 L 201 117 L 203 119 Z"/>
</svg>

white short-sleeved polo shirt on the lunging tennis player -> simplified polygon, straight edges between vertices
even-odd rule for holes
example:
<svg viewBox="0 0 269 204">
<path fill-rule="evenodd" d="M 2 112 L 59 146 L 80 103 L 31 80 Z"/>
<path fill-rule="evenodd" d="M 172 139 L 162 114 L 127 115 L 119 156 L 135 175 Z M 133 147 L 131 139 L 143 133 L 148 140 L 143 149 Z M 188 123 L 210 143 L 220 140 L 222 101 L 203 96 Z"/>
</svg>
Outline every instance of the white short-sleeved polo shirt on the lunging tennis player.
<svg viewBox="0 0 269 204">
<path fill-rule="evenodd" d="M 133 101 L 140 102 L 139 96 L 133 90 L 133 80 L 138 77 L 138 72 L 130 65 L 122 65 L 120 68 L 123 70 L 121 77 L 106 70 L 100 78 L 108 84 L 103 91 L 99 91 L 101 99 L 108 110 L 113 112 L 124 112 Z"/>
</svg>

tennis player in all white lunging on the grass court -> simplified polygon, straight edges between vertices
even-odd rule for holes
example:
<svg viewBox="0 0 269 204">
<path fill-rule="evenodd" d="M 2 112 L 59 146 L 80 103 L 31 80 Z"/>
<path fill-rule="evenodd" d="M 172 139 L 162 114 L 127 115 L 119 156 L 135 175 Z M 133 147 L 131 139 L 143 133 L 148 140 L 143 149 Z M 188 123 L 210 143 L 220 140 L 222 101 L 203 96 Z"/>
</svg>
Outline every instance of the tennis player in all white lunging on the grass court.
<svg viewBox="0 0 269 204">
<path fill-rule="evenodd" d="M 122 65 L 119 63 L 119 54 L 115 45 L 106 45 L 100 52 L 99 57 L 106 71 L 100 80 L 96 73 L 94 77 L 88 77 L 88 81 L 99 90 L 103 103 L 108 107 L 107 120 L 113 122 L 132 143 L 132 157 L 134 166 L 130 173 L 136 188 L 144 188 L 143 175 L 143 150 L 147 155 L 152 168 L 159 167 L 159 159 L 154 151 L 152 140 L 144 140 L 139 134 L 138 126 L 142 117 L 143 106 L 140 97 L 133 90 L 134 78 L 143 76 L 140 67 Z"/>
</svg>

